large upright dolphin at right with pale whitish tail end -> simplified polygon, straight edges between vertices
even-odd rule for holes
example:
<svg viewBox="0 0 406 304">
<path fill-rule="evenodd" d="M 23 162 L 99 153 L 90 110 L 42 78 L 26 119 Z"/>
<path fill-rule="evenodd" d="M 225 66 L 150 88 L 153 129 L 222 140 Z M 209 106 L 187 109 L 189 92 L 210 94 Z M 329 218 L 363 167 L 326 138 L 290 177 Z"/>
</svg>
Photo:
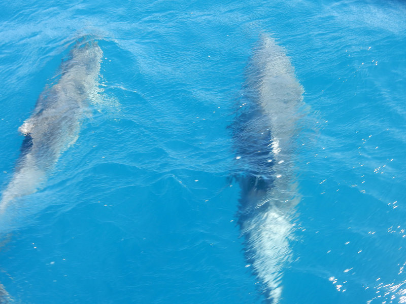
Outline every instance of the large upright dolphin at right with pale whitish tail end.
<svg viewBox="0 0 406 304">
<path fill-rule="evenodd" d="M 291 259 L 293 208 L 300 201 L 292 156 L 303 88 L 284 49 L 267 35 L 247 68 L 243 105 L 232 128 L 241 188 L 239 226 L 266 302 L 281 299 Z"/>
</svg>

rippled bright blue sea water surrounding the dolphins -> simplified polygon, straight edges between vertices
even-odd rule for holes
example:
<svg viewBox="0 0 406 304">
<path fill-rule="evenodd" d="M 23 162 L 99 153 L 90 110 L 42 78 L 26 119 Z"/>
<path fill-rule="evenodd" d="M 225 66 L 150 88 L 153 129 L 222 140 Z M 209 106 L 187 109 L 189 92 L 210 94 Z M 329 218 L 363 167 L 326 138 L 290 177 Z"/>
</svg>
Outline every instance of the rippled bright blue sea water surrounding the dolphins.
<svg viewBox="0 0 406 304">
<path fill-rule="evenodd" d="M 3 3 L 2 190 L 72 45 L 92 35 L 104 56 L 76 143 L 2 217 L 0 282 L 17 303 L 261 303 L 229 126 L 266 33 L 308 106 L 280 302 L 406 302 L 405 16 L 377 0 Z"/>
</svg>

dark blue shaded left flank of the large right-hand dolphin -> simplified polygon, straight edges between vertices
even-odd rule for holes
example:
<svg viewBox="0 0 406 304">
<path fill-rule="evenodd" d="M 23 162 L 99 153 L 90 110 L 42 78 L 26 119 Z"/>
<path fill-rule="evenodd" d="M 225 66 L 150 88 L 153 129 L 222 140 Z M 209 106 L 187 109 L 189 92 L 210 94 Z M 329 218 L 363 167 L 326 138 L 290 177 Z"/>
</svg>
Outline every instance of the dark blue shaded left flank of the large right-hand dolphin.
<svg viewBox="0 0 406 304">
<path fill-rule="evenodd" d="M 241 157 L 235 160 L 236 166 L 232 172 L 232 179 L 236 180 L 241 188 L 237 224 L 244 237 L 244 256 L 249 264 L 253 264 L 255 251 L 249 244 L 251 235 L 250 231 L 244 229 L 244 223 L 253 220 L 255 215 L 265 212 L 268 208 L 268 203 L 263 199 L 273 187 L 275 160 L 269 116 L 258 104 L 255 92 L 248 88 L 245 88 L 244 92 L 238 102 L 239 110 L 229 128 L 232 131 L 235 156 Z M 251 271 L 254 276 L 258 275 L 254 269 Z M 266 284 L 258 283 L 256 286 L 259 294 L 263 296 L 262 302 L 273 303 Z"/>
</svg>

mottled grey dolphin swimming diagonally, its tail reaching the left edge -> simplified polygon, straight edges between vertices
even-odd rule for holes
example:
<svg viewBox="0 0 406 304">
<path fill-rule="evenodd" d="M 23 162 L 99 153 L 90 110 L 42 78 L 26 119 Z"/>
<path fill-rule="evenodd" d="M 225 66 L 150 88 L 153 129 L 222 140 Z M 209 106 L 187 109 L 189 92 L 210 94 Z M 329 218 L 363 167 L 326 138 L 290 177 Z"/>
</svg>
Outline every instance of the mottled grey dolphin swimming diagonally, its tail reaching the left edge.
<svg viewBox="0 0 406 304">
<path fill-rule="evenodd" d="M 81 39 L 60 65 L 56 84 L 46 89 L 19 131 L 24 135 L 14 175 L 0 201 L 0 214 L 15 199 L 35 193 L 60 154 L 79 135 L 86 99 L 94 90 L 103 52 L 95 41 Z"/>
</svg>

